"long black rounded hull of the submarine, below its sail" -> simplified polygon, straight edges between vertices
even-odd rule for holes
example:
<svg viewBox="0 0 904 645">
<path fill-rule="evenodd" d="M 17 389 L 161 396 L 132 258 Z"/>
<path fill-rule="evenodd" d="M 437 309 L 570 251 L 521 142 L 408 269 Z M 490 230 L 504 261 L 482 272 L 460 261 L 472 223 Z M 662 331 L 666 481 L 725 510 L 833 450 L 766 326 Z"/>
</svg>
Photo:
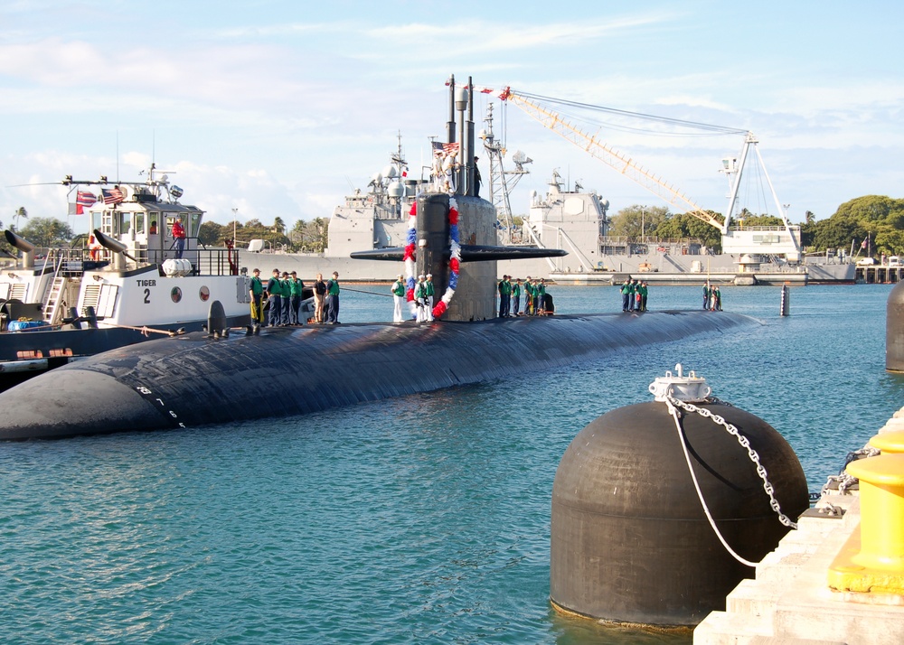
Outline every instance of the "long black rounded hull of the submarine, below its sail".
<svg viewBox="0 0 904 645">
<path fill-rule="evenodd" d="M 648 312 L 343 324 L 220 339 L 192 333 L 107 351 L 0 393 L 0 439 L 302 415 L 755 322 L 736 313 Z"/>
</svg>

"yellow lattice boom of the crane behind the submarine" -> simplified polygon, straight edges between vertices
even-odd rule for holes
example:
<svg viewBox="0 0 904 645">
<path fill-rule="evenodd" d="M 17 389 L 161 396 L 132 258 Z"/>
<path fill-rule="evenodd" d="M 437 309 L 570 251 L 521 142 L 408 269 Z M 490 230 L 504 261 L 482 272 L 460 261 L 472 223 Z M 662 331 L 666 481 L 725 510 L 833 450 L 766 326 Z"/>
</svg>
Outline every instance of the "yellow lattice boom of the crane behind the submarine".
<svg viewBox="0 0 904 645">
<path fill-rule="evenodd" d="M 666 183 L 661 177 L 650 173 L 633 159 L 621 154 L 598 141 L 595 136 L 590 135 L 578 126 L 571 124 L 566 119 L 549 109 L 544 108 L 534 101 L 524 98 L 516 94 L 512 89 L 506 89 L 503 95 L 504 100 L 513 102 L 525 113 L 535 118 L 541 125 L 548 127 L 553 132 L 569 140 L 572 144 L 583 148 L 589 154 L 592 154 L 604 164 L 611 166 L 617 171 L 625 175 L 628 179 L 640 184 L 647 191 L 653 192 L 660 199 L 671 204 L 678 210 L 687 212 L 688 214 L 705 221 L 707 224 L 719 229 L 722 234 L 728 232 L 728 220 L 720 220 L 711 214 L 708 210 L 703 209 L 694 203 L 683 192 L 678 191 L 672 184 Z"/>
</svg>

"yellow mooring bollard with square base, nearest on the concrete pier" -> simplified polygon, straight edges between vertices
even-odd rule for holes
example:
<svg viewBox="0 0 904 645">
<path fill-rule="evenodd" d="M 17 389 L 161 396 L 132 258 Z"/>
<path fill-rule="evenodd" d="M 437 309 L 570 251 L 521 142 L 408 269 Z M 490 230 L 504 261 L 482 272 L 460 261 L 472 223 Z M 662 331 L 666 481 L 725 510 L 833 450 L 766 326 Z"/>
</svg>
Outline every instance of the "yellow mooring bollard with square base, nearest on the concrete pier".
<svg viewBox="0 0 904 645">
<path fill-rule="evenodd" d="M 904 454 L 861 459 L 847 472 L 860 480 L 860 527 L 829 567 L 829 586 L 904 594 Z"/>
</svg>

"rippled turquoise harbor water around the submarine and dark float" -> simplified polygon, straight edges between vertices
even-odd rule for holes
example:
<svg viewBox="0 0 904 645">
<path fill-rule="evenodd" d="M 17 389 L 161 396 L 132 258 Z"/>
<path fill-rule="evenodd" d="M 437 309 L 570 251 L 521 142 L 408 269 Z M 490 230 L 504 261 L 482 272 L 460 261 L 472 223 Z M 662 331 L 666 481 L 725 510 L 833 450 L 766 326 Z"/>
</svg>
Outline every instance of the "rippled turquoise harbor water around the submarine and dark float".
<svg viewBox="0 0 904 645">
<path fill-rule="evenodd" d="M 650 308 L 699 291 L 654 287 Z M 689 642 L 551 611 L 562 453 L 680 361 L 785 435 L 818 491 L 904 405 L 889 292 L 798 288 L 780 318 L 777 287 L 725 288 L 759 324 L 312 416 L 0 444 L 0 640 Z M 612 287 L 551 294 L 561 313 L 621 308 Z M 345 294 L 341 320 L 375 319 L 389 298 Z"/>
</svg>

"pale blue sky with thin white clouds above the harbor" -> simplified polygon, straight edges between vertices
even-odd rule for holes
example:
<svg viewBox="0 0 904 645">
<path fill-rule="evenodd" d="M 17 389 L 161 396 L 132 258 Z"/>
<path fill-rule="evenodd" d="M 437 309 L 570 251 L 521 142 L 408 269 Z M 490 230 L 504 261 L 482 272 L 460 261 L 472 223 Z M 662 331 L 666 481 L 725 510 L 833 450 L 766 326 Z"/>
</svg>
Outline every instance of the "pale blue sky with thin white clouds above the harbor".
<svg viewBox="0 0 904 645">
<path fill-rule="evenodd" d="M 66 174 L 134 181 L 152 159 L 208 219 L 226 223 L 233 209 L 240 220 L 290 226 L 328 217 L 388 163 L 399 134 L 419 173 L 428 137 L 443 134 L 450 73 L 749 129 L 793 221 L 805 210 L 829 217 L 864 194 L 904 197 L 902 5 L 743 5 L 753 4 L 7 0 L 0 220 L 8 225 L 20 206 L 65 219 L 65 189 L 9 186 Z M 476 103 L 476 129 L 486 102 Z M 662 204 L 494 102 L 496 134 L 510 154 L 534 160 L 513 192 L 516 214 L 528 192 L 545 192 L 553 169 L 603 195 L 611 212 Z M 739 153 L 740 136 L 641 136 L 594 118 L 607 144 L 704 208 L 725 210 L 717 171 Z M 757 182 L 745 193 L 750 210 L 775 211 Z"/>
</svg>

